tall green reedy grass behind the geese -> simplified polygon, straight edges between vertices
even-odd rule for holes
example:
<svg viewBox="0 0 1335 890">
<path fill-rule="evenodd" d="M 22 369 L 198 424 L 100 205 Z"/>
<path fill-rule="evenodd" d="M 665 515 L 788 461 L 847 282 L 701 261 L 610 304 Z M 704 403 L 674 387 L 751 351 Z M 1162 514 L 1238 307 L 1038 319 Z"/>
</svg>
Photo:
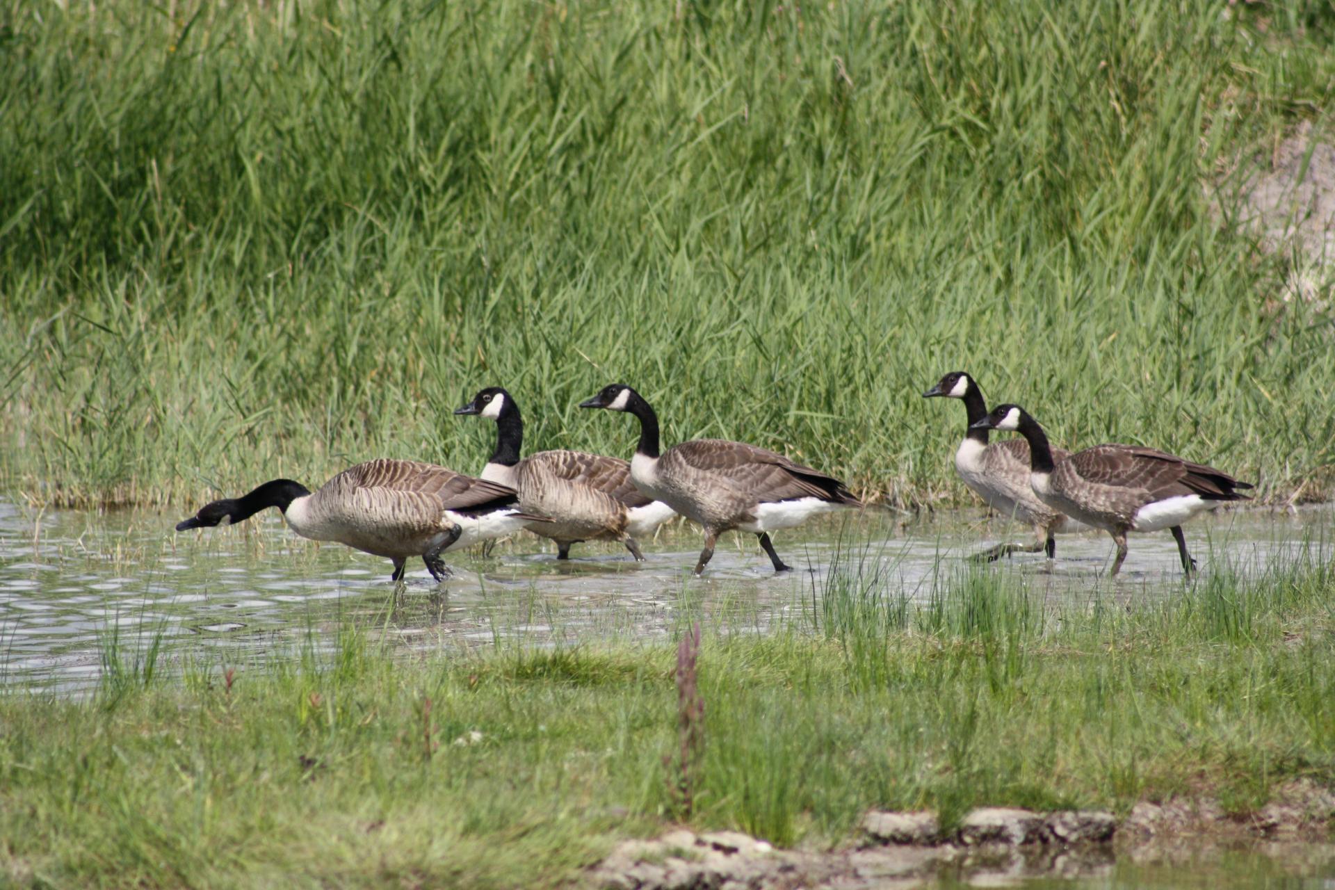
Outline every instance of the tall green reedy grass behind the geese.
<svg viewBox="0 0 1335 890">
<path fill-rule="evenodd" d="M 61 5 L 0 8 L 11 495 L 477 470 L 446 412 L 497 383 L 629 455 L 573 407 L 627 380 L 669 440 L 959 499 L 955 368 L 1331 491 L 1331 319 L 1227 197 L 1320 119 L 1327 3 Z"/>
</svg>

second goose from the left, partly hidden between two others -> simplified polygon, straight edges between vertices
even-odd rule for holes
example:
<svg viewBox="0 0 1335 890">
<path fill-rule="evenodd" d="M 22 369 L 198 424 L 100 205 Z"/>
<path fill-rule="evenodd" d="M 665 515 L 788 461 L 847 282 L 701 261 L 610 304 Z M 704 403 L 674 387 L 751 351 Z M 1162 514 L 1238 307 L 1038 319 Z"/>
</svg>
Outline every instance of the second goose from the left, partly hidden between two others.
<svg viewBox="0 0 1335 890">
<path fill-rule="evenodd" d="M 497 447 L 482 478 L 519 492 L 519 508 L 550 516 L 530 522 L 529 531 L 557 542 L 557 559 L 570 558 L 581 540 L 619 540 L 638 562 L 635 538 L 653 535 L 673 508 L 647 498 L 630 482 L 630 463 L 582 451 L 539 451 L 519 459 L 523 419 L 519 406 L 501 387 L 487 387 L 455 414 L 497 422 Z"/>
</svg>

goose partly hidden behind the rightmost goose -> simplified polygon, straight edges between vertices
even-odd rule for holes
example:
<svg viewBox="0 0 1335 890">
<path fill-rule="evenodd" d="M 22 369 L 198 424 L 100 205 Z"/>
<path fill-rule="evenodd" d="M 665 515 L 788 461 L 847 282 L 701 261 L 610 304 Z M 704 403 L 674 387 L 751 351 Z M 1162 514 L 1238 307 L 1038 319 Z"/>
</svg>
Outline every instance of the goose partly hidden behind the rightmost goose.
<svg viewBox="0 0 1335 890">
<path fill-rule="evenodd" d="M 955 452 L 955 471 L 960 474 L 960 479 L 1003 516 L 1013 516 L 1032 526 L 1039 538 L 1032 547 L 997 544 L 979 556 L 993 560 L 1015 551 L 1035 554 L 1043 550 L 1052 559 L 1057 552 L 1056 534 L 1075 531 L 1079 523 L 1071 522 L 1065 514 L 1057 512 L 1033 494 L 1029 487 L 1029 443 L 1024 439 L 1004 439 L 988 444 L 988 431 L 972 426 L 988 416 L 988 406 L 979 384 L 964 371 L 947 374 L 922 394 L 924 399 L 933 396 L 961 399 L 968 414 L 964 439 Z M 1053 448 L 1052 456 L 1061 460 L 1067 451 Z"/>
</svg>

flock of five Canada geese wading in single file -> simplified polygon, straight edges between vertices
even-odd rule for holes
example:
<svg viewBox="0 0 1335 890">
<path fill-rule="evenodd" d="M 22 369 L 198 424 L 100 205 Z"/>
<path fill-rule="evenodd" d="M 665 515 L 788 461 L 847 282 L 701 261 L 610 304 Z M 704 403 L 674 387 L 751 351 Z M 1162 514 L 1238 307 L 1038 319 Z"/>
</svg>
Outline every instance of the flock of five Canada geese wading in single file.
<svg viewBox="0 0 1335 890">
<path fill-rule="evenodd" d="M 993 510 L 1033 527 L 1032 547 L 1000 544 L 997 559 L 1015 550 L 1056 555 L 1059 532 L 1103 528 L 1117 544 L 1112 575 L 1127 556 L 1127 532 L 1168 528 L 1185 572 L 1195 568 L 1181 523 L 1251 488 L 1226 472 L 1164 451 L 1103 444 L 1068 454 L 1053 448 L 1024 408 L 991 412 L 973 378 L 947 374 L 922 394 L 960 399 L 968 414 L 955 466 L 964 483 Z M 514 396 L 499 387 L 478 392 L 455 411 L 497 424 L 497 444 L 478 478 L 431 463 L 379 459 L 348 467 L 311 491 L 274 479 L 240 498 L 214 500 L 178 523 L 176 531 L 238 523 L 276 507 L 298 535 L 336 540 L 394 562 L 402 580 L 407 560 L 421 558 L 437 580 L 449 575 L 442 555 L 521 528 L 557 543 L 569 559 L 582 540 L 619 540 L 643 560 L 637 538 L 682 515 L 700 524 L 705 546 L 696 563 L 704 572 L 718 535 L 745 531 L 760 538 L 774 571 L 790 567 L 769 532 L 801 524 L 830 510 L 861 507 L 842 482 L 784 455 L 742 442 L 696 439 L 659 451 L 658 415 L 623 383 L 579 403 L 631 414 L 639 443 L 630 462 L 582 451 L 541 451 L 521 458 L 523 420 Z M 1021 438 L 988 443 L 989 430 Z"/>
</svg>

